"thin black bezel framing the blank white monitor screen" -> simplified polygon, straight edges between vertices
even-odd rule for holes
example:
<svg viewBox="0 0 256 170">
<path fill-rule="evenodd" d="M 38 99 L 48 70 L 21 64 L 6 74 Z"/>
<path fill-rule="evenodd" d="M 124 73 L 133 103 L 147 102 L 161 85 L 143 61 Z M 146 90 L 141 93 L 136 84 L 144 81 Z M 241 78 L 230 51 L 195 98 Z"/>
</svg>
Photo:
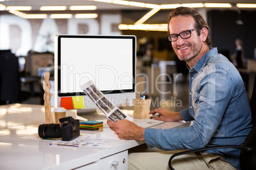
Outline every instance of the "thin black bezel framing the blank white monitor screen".
<svg viewBox="0 0 256 170">
<path fill-rule="evenodd" d="M 132 39 L 132 89 L 123 89 L 123 90 L 113 90 L 113 91 L 102 91 L 103 94 L 117 94 L 117 93 L 134 93 L 135 92 L 135 80 L 136 80 L 136 37 L 135 36 L 89 36 L 89 35 L 58 35 L 57 36 L 57 60 L 58 60 L 58 96 L 85 96 L 83 92 L 75 92 L 75 93 L 60 93 L 60 62 L 61 62 L 61 38 L 103 38 L 103 39 Z"/>
</svg>

